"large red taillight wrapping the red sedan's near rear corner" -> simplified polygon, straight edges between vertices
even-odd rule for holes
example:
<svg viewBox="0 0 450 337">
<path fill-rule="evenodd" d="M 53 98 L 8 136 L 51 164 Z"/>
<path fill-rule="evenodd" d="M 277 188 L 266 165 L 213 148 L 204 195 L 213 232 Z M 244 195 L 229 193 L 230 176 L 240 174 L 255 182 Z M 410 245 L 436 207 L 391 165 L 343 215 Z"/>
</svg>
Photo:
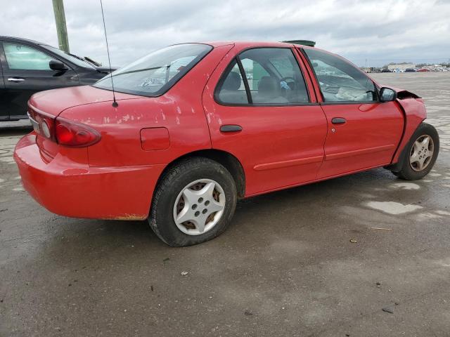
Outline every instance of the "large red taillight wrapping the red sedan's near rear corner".
<svg viewBox="0 0 450 337">
<path fill-rule="evenodd" d="M 56 141 L 60 145 L 85 147 L 97 143 L 101 138 L 94 128 L 61 117 L 56 118 L 55 125 Z"/>
</svg>

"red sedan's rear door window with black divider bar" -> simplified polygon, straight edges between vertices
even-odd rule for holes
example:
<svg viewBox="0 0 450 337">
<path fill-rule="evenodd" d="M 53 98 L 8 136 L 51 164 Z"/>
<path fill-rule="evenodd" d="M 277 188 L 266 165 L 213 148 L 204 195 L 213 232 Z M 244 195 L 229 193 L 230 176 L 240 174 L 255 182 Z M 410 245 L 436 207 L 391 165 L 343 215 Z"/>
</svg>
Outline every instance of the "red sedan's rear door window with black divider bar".
<svg viewBox="0 0 450 337">
<path fill-rule="evenodd" d="M 236 62 L 241 63 L 243 72 Z M 290 48 L 253 48 L 240 53 L 219 81 L 216 99 L 236 105 L 309 102 L 302 72 Z"/>
</svg>

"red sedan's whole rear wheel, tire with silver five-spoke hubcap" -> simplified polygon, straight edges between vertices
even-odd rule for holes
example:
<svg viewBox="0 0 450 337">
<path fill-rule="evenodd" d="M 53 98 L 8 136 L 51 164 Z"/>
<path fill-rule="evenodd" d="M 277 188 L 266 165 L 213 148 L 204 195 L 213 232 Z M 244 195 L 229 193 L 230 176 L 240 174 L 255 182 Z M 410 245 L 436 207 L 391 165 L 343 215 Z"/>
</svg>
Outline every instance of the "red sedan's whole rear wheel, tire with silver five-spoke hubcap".
<svg viewBox="0 0 450 337">
<path fill-rule="evenodd" d="M 236 209 L 236 184 L 206 158 L 181 161 L 162 177 L 148 222 L 169 246 L 189 246 L 224 232 Z"/>
</svg>

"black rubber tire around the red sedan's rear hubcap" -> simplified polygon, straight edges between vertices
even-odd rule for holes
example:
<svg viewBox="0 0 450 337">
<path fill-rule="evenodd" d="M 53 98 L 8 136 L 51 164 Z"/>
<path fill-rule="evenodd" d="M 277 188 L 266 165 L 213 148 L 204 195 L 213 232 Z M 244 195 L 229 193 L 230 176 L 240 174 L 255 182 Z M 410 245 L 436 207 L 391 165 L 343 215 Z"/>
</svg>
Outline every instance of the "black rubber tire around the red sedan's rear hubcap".
<svg viewBox="0 0 450 337">
<path fill-rule="evenodd" d="M 200 179 L 214 180 L 224 190 L 224 213 L 209 231 L 198 235 L 185 234 L 175 224 L 174 204 L 186 185 Z M 148 223 L 153 232 L 169 246 L 200 244 L 226 230 L 236 209 L 236 200 L 236 183 L 224 166 L 203 157 L 185 159 L 169 169 L 160 179 L 153 195 Z"/>
</svg>

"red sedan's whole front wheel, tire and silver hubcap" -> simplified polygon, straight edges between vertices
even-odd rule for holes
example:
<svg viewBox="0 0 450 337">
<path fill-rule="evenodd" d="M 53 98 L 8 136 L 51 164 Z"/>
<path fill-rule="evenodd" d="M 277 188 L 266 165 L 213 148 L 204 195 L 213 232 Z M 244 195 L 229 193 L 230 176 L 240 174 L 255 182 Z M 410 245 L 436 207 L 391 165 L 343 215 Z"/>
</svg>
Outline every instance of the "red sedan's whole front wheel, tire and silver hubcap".
<svg viewBox="0 0 450 337">
<path fill-rule="evenodd" d="M 434 126 L 420 124 L 406 145 L 401 170 L 394 173 L 401 179 L 418 180 L 425 177 L 435 165 L 439 153 L 439 136 Z"/>
</svg>

